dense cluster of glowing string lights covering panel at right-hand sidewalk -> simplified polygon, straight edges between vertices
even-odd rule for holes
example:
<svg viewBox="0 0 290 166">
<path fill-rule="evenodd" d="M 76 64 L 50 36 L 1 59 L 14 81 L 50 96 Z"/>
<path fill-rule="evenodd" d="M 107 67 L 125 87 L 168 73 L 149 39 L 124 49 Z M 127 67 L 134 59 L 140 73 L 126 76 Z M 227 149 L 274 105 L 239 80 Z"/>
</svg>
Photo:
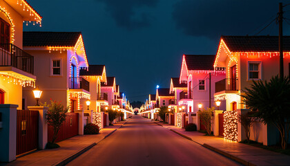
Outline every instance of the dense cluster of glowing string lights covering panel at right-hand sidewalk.
<svg viewBox="0 0 290 166">
<path fill-rule="evenodd" d="M 238 111 L 224 111 L 224 138 L 238 140 Z"/>
</svg>

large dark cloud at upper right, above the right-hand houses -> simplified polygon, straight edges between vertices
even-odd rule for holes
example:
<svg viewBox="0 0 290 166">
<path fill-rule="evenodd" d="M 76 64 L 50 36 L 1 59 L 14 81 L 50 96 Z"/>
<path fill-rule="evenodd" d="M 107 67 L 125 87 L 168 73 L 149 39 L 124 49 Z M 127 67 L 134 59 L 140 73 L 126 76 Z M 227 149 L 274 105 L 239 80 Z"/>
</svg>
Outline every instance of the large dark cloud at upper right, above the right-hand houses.
<svg viewBox="0 0 290 166">
<path fill-rule="evenodd" d="M 173 6 L 172 16 L 186 35 L 216 39 L 220 35 L 255 35 L 276 17 L 278 6 L 273 0 L 182 0 Z M 262 35 L 276 32 L 275 24 L 274 30 L 271 24 Z"/>
</svg>

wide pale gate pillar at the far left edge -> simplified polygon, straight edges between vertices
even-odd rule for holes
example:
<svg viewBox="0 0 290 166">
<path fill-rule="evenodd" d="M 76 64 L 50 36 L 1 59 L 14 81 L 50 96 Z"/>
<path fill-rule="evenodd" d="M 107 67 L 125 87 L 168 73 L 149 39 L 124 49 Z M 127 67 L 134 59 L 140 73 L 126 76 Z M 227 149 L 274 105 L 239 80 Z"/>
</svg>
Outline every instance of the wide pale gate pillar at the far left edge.
<svg viewBox="0 0 290 166">
<path fill-rule="evenodd" d="M 2 128 L 0 129 L 0 161 L 16 160 L 17 107 L 15 104 L 0 104 Z"/>
</svg>

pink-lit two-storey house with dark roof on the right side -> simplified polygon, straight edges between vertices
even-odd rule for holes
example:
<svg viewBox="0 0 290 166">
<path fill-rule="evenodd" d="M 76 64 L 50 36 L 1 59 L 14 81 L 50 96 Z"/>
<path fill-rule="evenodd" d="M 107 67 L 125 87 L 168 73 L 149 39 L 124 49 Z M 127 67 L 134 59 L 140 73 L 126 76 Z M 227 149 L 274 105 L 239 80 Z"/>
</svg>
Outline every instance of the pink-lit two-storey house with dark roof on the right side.
<svg viewBox="0 0 290 166">
<path fill-rule="evenodd" d="M 187 91 L 181 91 L 178 105 L 185 106 L 186 112 L 199 111 L 202 107 L 215 107 L 213 95 L 215 82 L 226 77 L 224 68 L 214 68 L 215 55 L 183 55 L 180 72 L 180 84 L 187 84 Z M 215 70 L 216 69 L 216 70 Z M 219 109 L 225 109 L 222 102 Z"/>
</svg>

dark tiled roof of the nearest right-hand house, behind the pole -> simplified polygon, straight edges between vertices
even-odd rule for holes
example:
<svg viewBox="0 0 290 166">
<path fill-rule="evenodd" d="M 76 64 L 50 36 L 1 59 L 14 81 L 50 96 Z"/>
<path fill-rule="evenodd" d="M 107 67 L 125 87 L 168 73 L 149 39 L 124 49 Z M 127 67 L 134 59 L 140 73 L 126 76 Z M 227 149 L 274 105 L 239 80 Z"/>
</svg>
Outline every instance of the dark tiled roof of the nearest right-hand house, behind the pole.
<svg viewBox="0 0 290 166">
<path fill-rule="evenodd" d="M 231 52 L 278 52 L 277 36 L 222 36 Z M 283 50 L 290 51 L 290 36 L 283 36 Z"/>
</svg>

